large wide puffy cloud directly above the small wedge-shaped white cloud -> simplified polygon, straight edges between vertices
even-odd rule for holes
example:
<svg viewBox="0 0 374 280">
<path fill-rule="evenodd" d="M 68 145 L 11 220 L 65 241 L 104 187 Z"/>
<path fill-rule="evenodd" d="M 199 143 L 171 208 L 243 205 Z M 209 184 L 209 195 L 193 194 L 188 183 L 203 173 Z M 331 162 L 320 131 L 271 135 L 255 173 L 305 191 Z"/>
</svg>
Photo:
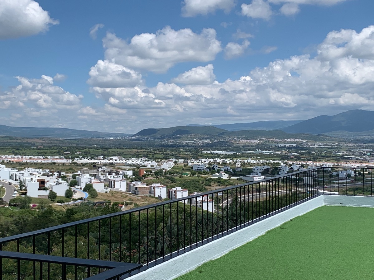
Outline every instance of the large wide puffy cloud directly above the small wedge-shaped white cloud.
<svg viewBox="0 0 374 280">
<path fill-rule="evenodd" d="M 156 34 L 135 35 L 127 42 L 113 33 L 103 39 L 105 59 L 131 69 L 162 73 L 179 62 L 208 62 L 221 52 L 216 31 L 204 28 L 200 34 L 190 28 L 165 27 Z"/>
</svg>

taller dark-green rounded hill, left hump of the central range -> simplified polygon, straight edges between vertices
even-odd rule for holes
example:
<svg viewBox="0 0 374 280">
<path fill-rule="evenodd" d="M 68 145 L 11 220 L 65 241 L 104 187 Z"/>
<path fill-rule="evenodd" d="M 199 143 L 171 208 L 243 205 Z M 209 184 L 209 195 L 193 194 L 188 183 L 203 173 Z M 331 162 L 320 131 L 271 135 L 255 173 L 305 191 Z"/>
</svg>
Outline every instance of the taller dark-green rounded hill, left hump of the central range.
<svg viewBox="0 0 374 280">
<path fill-rule="evenodd" d="M 186 134 L 199 134 L 207 136 L 215 136 L 220 133 L 226 132 L 227 130 L 205 126 L 205 127 L 168 127 L 168 128 L 147 128 L 139 131 L 136 136 L 147 136 L 147 137 L 172 137 Z"/>
</svg>

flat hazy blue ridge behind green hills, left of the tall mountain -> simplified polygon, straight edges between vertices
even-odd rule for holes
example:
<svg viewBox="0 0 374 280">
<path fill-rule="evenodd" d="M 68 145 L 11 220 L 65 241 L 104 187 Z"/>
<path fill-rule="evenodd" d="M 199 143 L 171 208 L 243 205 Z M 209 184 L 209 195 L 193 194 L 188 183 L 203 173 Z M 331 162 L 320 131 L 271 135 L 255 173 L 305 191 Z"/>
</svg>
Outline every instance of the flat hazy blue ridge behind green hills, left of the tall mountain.
<svg viewBox="0 0 374 280">
<path fill-rule="evenodd" d="M 212 126 L 222 128 L 228 131 L 237 130 L 275 130 L 290 125 L 297 124 L 302 121 L 260 121 L 260 122 L 243 122 L 236 124 L 214 124 Z M 201 124 L 188 124 L 191 127 L 202 127 Z"/>
</svg>

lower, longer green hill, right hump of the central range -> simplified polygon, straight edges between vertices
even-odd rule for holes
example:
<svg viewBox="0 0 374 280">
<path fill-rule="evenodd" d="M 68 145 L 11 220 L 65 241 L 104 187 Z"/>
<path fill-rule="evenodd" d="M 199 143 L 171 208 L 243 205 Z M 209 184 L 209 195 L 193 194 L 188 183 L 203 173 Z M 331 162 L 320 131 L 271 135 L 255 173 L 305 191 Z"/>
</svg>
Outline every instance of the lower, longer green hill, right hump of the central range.
<svg viewBox="0 0 374 280">
<path fill-rule="evenodd" d="M 218 136 L 231 136 L 231 137 L 245 137 L 248 139 L 256 138 L 275 138 L 275 139 L 303 139 L 303 140 L 314 140 L 323 141 L 329 140 L 331 137 L 324 135 L 312 135 L 303 133 L 286 133 L 282 130 L 240 130 L 240 131 L 227 131 L 219 134 Z"/>
</svg>

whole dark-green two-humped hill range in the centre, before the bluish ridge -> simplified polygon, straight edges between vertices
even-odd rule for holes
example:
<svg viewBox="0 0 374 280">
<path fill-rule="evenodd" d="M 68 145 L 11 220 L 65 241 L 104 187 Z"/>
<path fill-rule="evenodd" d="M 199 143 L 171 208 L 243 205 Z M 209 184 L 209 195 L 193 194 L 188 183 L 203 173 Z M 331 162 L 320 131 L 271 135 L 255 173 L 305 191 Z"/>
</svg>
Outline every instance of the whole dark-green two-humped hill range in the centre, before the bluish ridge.
<svg viewBox="0 0 374 280">
<path fill-rule="evenodd" d="M 198 136 L 216 136 L 216 137 L 243 137 L 246 139 L 256 139 L 260 137 L 276 138 L 276 139 L 303 139 L 303 140 L 326 140 L 331 139 L 327 136 L 316 136 L 310 134 L 291 134 L 282 130 L 240 130 L 227 131 L 213 126 L 205 127 L 169 127 L 169 128 L 148 128 L 139 131 L 134 137 L 173 137 L 186 136 L 194 134 Z M 197 136 L 196 136 L 197 137 Z"/>
</svg>

